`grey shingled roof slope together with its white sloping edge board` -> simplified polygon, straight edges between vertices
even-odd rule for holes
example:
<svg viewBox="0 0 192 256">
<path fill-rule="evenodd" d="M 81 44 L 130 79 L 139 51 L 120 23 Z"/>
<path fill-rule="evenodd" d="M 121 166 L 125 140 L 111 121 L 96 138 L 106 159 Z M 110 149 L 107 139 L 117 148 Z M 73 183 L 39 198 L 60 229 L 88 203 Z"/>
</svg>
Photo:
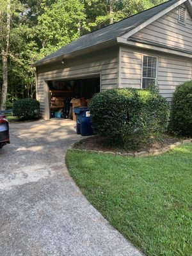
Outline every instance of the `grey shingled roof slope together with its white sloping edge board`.
<svg viewBox="0 0 192 256">
<path fill-rule="evenodd" d="M 102 29 L 81 36 L 70 44 L 61 47 L 61 49 L 58 49 L 58 51 L 52 52 L 48 56 L 45 56 L 45 58 L 42 60 L 36 61 L 35 65 L 54 60 L 55 58 L 65 56 L 66 54 L 71 54 L 72 52 L 88 49 L 93 47 L 93 45 L 99 45 L 116 40 L 116 38 L 120 36 L 124 36 L 124 38 L 129 37 L 164 15 L 164 13 L 175 8 L 175 6 L 179 6 L 180 3 L 184 3 L 186 1 L 188 1 L 189 6 L 191 6 L 191 0 L 170 0 L 136 15 L 132 15 L 127 19 L 120 20 L 119 22 L 106 26 Z"/>
</svg>

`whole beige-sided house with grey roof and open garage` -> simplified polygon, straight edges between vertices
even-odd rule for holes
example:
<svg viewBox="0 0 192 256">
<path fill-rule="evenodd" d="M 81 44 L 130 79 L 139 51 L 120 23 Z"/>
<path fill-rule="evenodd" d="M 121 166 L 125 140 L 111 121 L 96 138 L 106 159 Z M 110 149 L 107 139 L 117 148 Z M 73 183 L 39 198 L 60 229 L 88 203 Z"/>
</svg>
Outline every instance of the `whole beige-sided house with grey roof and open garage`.
<svg viewBox="0 0 192 256">
<path fill-rule="evenodd" d="M 152 81 L 171 102 L 175 87 L 192 79 L 192 2 L 159 4 L 81 36 L 34 66 L 45 119 L 63 97 L 90 99 L 100 90 L 145 88 Z"/>
</svg>

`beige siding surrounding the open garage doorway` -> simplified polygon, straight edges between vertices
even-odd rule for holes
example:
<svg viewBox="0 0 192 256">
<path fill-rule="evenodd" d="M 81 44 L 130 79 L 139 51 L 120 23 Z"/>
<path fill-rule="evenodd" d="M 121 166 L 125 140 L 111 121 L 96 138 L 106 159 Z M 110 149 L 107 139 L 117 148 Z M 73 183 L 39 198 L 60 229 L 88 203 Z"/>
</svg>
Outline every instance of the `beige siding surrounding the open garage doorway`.
<svg viewBox="0 0 192 256">
<path fill-rule="evenodd" d="M 49 100 L 47 83 L 51 79 L 73 79 L 98 74 L 101 81 L 101 90 L 117 87 L 118 73 L 118 49 L 112 47 L 104 51 L 98 51 L 89 56 L 78 56 L 65 61 L 51 63 L 37 68 L 37 94 L 40 101 L 42 116 L 49 115 Z M 47 112 L 48 109 L 48 112 Z"/>
</svg>

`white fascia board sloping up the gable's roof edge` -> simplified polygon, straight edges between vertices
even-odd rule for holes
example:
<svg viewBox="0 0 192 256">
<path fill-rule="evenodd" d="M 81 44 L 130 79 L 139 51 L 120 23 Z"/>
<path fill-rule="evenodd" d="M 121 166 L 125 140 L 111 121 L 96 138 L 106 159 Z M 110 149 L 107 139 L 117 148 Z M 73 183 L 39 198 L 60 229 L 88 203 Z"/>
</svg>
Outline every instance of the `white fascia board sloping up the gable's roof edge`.
<svg viewBox="0 0 192 256">
<path fill-rule="evenodd" d="M 146 20 L 145 22 L 143 22 L 142 24 L 140 24 L 139 26 L 137 26 L 136 28 L 132 29 L 131 31 L 125 33 L 124 35 L 122 35 L 121 37 L 123 38 L 129 38 L 130 36 L 134 35 L 135 33 L 137 33 L 138 31 L 140 31 L 141 29 L 145 28 L 146 26 L 148 26 L 149 24 L 151 24 L 152 22 L 154 22 L 155 20 L 161 18 L 164 14 L 172 11 L 174 8 L 176 8 L 177 6 L 179 6 L 180 4 L 186 2 L 186 1 L 191 1 L 191 0 L 180 0 L 175 4 L 172 4 L 172 6 L 169 6 L 168 8 L 166 8 L 165 10 L 157 13 L 154 17 Z"/>
</svg>

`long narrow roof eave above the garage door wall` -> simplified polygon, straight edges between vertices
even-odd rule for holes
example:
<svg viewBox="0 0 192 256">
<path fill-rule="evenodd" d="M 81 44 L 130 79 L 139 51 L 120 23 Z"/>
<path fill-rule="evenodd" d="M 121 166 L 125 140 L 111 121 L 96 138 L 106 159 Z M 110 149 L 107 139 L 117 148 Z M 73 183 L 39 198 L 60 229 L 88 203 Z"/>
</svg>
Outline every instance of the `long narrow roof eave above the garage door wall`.
<svg viewBox="0 0 192 256">
<path fill-rule="evenodd" d="M 60 61 L 63 58 L 65 58 L 65 59 L 66 58 L 72 58 L 72 57 L 79 56 L 79 55 L 86 54 L 86 53 L 90 53 L 90 52 L 93 52 L 93 51 L 96 51 L 96 50 L 99 50 L 99 49 L 103 49 L 103 48 L 106 48 L 106 47 L 109 47 L 109 46 L 113 46 L 115 44 L 117 44 L 117 40 L 116 40 L 116 38 L 113 38 L 112 40 L 102 42 L 100 44 L 92 45 L 90 47 L 86 47 L 84 49 L 77 50 L 77 51 L 74 51 L 74 52 L 69 52 L 68 54 L 61 54 L 60 56 L 50 58 L 48 60 L 37 61 L 36 63 L 33 63 L 31 65 L 31 67 L 39 67 L 41 65 L 49 64 L 51 62 Z"/>
</svg>

